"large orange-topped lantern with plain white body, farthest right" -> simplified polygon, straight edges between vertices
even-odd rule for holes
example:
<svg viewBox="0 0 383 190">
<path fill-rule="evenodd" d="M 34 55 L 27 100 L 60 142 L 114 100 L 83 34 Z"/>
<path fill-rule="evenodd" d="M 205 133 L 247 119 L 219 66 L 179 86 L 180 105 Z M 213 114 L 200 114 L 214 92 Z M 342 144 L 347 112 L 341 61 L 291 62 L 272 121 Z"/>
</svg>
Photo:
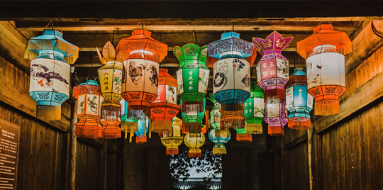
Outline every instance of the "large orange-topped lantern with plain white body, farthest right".
<svg viewBox="0 0 383 190">
<path fill-rule="evenodd" d="M 299 55 L 306 59 L 307 88 L 315 99 L 314 113 L 339 113 L 339 96 L 345 92 L 345 55 L 352 50 L 350 38 L 323 24 L 296 45 Z"/>
</svg>

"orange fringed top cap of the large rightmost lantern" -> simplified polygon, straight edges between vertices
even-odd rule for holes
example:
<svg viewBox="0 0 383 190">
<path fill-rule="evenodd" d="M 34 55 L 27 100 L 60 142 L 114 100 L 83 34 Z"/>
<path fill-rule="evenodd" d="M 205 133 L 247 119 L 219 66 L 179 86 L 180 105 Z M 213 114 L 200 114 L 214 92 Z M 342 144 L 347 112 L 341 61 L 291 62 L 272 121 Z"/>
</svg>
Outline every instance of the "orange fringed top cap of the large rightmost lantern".
<svg viewBox="0 0 383 190">
<path fill-rule="evenodd" d="M 296 52 L 307 59 L 318 45 L 335 45 L 336 50 L 346 55 L 353 50 L 353 43 L 345 32 L 333 30 L 330 24 L 322 24 L 313 28 L 313 34 L 296 43 Z"/>
</svg>

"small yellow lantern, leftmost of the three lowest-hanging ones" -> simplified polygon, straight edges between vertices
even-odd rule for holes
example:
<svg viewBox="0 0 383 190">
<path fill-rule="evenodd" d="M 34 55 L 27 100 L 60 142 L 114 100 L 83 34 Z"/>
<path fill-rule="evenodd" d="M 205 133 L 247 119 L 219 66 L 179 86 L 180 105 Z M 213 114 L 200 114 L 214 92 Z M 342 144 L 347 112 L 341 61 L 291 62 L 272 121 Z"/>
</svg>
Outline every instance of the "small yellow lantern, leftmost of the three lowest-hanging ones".
<svg viewBox="0 0 383 190">
<path fill-rule="evenodd" d="M 166 155 L 178 155 L 178 146 L 182 144 L 184 138 L 181 136 L 182 120 L 174 117 L 172 123 L 172 132 L 164 133 L 161 138 L 161 143 L 166 147 Z"/>
</svg>

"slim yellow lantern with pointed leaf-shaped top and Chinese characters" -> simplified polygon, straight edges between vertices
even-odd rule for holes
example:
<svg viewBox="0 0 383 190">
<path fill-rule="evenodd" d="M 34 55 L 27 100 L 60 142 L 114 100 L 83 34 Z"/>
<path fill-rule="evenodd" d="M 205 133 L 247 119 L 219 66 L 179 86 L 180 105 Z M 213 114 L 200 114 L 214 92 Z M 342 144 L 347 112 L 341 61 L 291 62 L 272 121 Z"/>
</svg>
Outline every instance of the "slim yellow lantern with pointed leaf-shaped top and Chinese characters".
<svg viewBox="0 0 383 190">
<path fill-rule="evenodd" d="M 104 64 L 104 67 L 99 69 L 100 86 L 104 96 L 101 106 L 107 111 L 121 111 L 122 57 L 116 57 L 116 50 L 109 41 L 102 50 L 104 57 L 99 52 L 99 48 L 96 47 L 96 49 L 101 63 Z"/>
</svg>

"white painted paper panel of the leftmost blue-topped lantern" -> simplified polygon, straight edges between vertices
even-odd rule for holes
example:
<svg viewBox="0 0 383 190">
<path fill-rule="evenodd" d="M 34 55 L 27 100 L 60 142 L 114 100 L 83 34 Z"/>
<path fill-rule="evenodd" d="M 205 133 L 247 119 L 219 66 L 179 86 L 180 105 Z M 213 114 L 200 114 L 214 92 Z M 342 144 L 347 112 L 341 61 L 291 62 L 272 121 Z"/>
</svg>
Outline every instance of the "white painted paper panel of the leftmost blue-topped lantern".
<svg viewBox="0 0 383 190">
<path fill-rule="evenodd" d="M 30 63 L 30 91 L 55 91 L 70 95 L 70 65 L 50 59 L 35 59 Z"/>
</svg>

